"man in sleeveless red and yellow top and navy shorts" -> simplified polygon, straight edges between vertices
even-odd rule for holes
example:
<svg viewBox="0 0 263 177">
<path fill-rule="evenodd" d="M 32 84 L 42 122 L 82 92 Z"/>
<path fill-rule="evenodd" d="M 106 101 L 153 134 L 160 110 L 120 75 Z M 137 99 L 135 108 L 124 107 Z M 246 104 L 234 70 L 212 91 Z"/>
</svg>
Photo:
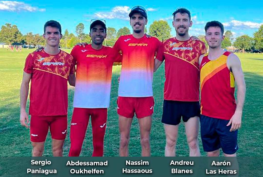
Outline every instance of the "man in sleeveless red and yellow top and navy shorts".
<svg viewBox="0 0 263 177">
<path fill-rule="evenodd" d="M 201 85 L 201 139 L 208 156 L 236 156 L 237 132 L 245 100 L 245 80 L 239 58 L 221 48 L 224 26 L 211 21 L 205 26 L 209 53 L 199 57 Z M 237 85 L 237 104 L 235 100 Z"/>
</svg>

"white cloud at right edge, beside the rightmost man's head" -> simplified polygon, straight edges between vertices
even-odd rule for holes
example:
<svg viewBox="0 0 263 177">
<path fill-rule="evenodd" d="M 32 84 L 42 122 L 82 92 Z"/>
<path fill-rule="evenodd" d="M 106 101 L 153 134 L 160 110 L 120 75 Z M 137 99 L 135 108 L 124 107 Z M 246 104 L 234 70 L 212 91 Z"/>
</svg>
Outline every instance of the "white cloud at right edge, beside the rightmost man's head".
<svg viewBox="0 0 263 177">
<path fill-rule="evenodd" d="M 224 27 L 227 29 L 254 29 L 259 28 L 263 23 L 255 23 L 250 21 L 238 21 L 231 20 L 230 22 L 223 23 Z"/>
</svg>

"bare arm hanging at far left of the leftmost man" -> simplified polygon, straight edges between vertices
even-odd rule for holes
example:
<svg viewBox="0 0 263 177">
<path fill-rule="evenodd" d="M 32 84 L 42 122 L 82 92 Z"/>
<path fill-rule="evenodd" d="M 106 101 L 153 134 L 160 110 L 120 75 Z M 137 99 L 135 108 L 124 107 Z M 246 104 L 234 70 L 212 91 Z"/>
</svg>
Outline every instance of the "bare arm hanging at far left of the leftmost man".
<svg viewBox="0 0 263 177">
<path fill-rule="evenodd" d="M 31 74 L 23 72 L 23 79 L 20 88 L 20 123 L 22 126 L 29 127 L 28 114 L 26 113 L 27 96 Z"/>
</svg>

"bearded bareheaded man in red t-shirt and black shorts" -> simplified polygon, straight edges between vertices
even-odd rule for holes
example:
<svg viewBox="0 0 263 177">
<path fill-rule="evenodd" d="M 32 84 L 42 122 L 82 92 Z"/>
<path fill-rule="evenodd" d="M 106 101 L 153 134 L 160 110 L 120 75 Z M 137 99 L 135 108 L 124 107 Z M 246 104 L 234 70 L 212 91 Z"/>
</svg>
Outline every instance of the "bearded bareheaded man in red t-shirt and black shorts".
<svg viewBox="0 0 263 177">
<path fill-rule="evenodd" d="M 187 9 L 177 9 L 173 16 L 176 37 L 164 42 L 165 83 L 162 123 L 166 134 L 165 156 L 175 156 L 181 117 L 185 123 L 189 155 L 200 156 L 197 139 L 200 117 L 198 58 L 206 53 L 206 48 L 203 42 L 192 40 L 188 34 L 192 21 Z M 161 61 L 155 65 L 155 70 L 160 64 Z"/>
</svg>

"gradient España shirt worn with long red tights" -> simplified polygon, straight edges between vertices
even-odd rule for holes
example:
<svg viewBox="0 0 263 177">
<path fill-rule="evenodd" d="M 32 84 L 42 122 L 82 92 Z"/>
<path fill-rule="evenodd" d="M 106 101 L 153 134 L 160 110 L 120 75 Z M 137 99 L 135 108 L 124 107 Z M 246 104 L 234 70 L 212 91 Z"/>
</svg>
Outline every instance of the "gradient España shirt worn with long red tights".
<svg viewBox="0 0 263 177">
<path fill-rule="evenodd" d="M 122 57 L 111 47 L 96 50 L 75 46 L 71 55 L 77 64 L 74 108 L 108 108 L 113 62 Z"/>
</svg>

